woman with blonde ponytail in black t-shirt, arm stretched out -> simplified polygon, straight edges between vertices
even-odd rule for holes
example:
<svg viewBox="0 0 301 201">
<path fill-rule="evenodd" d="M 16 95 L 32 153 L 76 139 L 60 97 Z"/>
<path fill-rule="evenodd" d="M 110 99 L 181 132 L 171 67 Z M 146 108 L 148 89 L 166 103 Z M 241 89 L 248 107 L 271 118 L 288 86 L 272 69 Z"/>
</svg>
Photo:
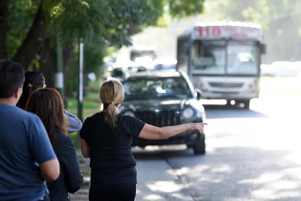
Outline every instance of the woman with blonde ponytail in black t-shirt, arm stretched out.
<svg viewBox="0 0 301 201">
<path fill-rule="evenodd" d="M 186 130 L 203 132 L 207 123 L 156 127 L 119 114 L 124 88 L 119 80 L 106 80 L 99 90 L 103 110 L 88 117 L 80 130 L 81 152 L 90 158 L 89 201 L 134 201 L 137 188 L 132 138 L 168 138 Z"/>
</svg>

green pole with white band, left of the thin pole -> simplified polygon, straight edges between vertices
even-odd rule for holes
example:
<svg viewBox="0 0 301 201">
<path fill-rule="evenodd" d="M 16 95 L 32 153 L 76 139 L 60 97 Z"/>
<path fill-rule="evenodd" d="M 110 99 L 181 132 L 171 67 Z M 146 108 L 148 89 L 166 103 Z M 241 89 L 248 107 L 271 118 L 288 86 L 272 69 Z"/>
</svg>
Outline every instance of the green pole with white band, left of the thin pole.
<svg viewBox="0 0 301 201">
<path fill-rule="evenodd" d="M 56 72 L 54 77 L 54 86 L 64 98 L 64 74 L 63 74 L 63 48 L 57 43 L 56 49 Z"/>
</svg>

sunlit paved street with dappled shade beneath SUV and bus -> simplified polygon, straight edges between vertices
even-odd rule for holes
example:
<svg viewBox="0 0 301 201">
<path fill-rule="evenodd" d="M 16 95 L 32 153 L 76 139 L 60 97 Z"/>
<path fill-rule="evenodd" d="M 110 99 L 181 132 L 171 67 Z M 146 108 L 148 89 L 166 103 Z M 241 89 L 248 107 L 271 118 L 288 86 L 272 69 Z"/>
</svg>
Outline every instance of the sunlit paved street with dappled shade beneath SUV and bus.
<svg viewBox="0 0 301 201">
<path fill-rule="evenodd" d="M 206 106 L 206 155 L 185 146 L 133 151 L 136 200 L 301 200 L 300 103 L 268 95 L 251 110 Z"/>
</svg>

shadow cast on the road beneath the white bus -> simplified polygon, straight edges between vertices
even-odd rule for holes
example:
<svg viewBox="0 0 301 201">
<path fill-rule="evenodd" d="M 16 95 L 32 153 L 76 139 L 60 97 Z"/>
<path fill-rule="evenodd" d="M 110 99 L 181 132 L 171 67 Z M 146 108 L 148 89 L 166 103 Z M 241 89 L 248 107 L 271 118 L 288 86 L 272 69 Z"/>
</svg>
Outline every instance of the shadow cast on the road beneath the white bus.
<svg viewBox="0 0 301 201">
<path fill-rule="evenodd" d="M 204 105 L 207 119 L 224 118 L 267 118 L 266 114 L 238 106 L 226 107 L 225 105 Z"/>
</svg>

